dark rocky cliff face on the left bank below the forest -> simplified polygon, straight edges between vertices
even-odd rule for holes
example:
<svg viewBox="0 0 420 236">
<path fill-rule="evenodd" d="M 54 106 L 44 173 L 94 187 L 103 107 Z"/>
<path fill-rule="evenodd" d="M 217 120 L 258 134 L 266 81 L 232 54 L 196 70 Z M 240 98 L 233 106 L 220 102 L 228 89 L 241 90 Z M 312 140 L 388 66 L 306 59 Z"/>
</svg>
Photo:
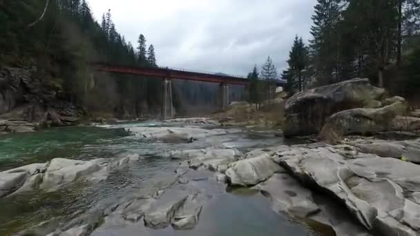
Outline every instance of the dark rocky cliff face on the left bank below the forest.
<svg viewBox="0 0 420 236">
<path fill-rule="evenodd" d="M 39 79 L 35 79 L 32 75 L 36 70 L 35 67 L 6 67 L 0 70 L 0 120 L 5 126 L 3 131 L 19 132 L 16 130 L 21 129 L 12 128 L 15 125 L 29 126 L 35 130 L 40 126 L 70 126 L 77 123 L 80 115 L 77 106 L 59 99 L 55 90 L 47 89 Z"/>
</svg>

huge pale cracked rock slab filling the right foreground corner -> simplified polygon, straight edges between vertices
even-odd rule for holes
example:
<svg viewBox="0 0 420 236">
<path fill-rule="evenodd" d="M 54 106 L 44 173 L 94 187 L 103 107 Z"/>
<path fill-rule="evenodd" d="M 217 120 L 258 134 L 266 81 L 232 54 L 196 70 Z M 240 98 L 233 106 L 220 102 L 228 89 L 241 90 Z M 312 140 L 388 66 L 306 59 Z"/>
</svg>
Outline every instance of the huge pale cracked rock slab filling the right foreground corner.
<svg viewBox="0 0 420 236">
<path fill-rule="evenodd" d="M 341 199 L 368 230 L 377 235 L 417 235 L 417 203 L 404 193 L 419 192 L 420 166 L 394 158 L 349 158 L 326 148 L 292 148 L 276 153 L 279 164 L 307 186 Z M 410 197 L 408 195 L 407 197 Z"/>
</svg>

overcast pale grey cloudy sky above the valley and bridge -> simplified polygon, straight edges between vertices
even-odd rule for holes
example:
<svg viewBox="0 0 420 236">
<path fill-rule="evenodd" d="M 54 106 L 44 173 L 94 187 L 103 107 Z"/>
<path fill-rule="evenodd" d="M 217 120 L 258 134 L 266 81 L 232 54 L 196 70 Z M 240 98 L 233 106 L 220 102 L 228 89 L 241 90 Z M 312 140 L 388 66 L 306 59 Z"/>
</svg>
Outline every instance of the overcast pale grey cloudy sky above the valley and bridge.
<svg viewBox="0 0 420 236">
<path fill-rule="evenodd" d="M 271 56 L 278 72 L 296 34 L 309 39 L 316 0 L 89 0 L 99 21 L 111 9 L 136 46 L 142 33 L 159 66 L 246 75 Z"/>
</svg>

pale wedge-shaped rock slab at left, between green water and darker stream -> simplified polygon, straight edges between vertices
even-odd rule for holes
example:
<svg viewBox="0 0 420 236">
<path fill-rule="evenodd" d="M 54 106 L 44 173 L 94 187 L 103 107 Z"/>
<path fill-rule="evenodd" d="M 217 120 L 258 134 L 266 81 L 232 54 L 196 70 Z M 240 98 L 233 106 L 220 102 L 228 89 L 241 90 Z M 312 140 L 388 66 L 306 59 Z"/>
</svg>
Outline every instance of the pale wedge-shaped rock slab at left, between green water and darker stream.
<svg viewBox="0 0 420 236">
<path fill-rule="evenodd" d="M 99 166 L 92 161 L 56 158 L 50 161 L 39 187 L 47 191 L 55 191 L 65 184 L 86 177 L 98 170 Z"/>
</svg>

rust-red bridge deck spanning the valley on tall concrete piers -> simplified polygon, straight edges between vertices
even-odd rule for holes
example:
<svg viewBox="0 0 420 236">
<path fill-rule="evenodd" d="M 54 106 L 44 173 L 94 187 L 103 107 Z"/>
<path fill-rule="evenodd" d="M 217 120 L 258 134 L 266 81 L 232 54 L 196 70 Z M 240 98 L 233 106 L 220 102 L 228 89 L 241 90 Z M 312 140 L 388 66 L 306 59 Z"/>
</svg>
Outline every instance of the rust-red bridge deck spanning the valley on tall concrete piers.
<svg viewBox="0 0 420 236">
<path fill-rule="evenodd" d="M 102 72 L 122 73 L 128 75 L 140 75 L 153 78 L 184 79 L 191 81 L 203 81 L 210 83 L 227 83 L 233 85 L 247 86 L 249 80 L 244 77 L 230 75 L 210 74 L 204 72 L 192 72 L 171 68 L 146 68 L 133 66 L 113 66 L 104 63 L 93 64 L 95 70 Z M 284 81 L 276 81 L 277 86 L 285 86 Z"/>
</svg>

